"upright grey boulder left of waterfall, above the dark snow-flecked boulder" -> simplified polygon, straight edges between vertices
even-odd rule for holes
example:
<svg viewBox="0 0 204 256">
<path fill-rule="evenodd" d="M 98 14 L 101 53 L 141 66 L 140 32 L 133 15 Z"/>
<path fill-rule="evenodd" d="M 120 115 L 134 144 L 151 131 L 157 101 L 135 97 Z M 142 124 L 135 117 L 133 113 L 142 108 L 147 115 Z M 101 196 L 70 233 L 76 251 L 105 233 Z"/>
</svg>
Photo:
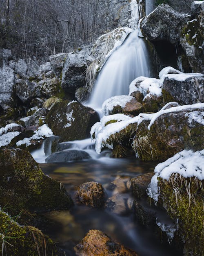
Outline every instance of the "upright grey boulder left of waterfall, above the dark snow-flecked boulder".
<svg viewBox="0 0 204 256">
<path fill-rule="evenodd" d="M 76 88 L 86 85 L 86 61 L 79 52 L 70 52 L 64 62 L 62 70 L 62 88 L 67 93 L 75 93 Z"/>
</svg>

